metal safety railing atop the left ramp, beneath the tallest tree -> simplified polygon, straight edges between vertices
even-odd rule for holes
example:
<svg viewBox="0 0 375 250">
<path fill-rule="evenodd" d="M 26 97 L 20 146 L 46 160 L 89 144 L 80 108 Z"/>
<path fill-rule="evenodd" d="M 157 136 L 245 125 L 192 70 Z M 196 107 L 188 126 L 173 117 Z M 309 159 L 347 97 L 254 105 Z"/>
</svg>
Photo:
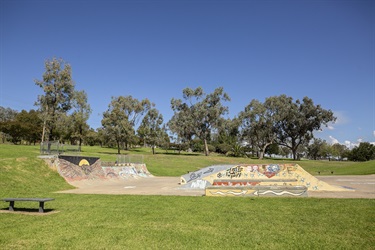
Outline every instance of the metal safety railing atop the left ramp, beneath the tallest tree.
<svg viewBox="0 0 375 250">
<path fill-rule="evenodd" d="M 45 141 L 40 143 L 41 155 L 60 155 L 60 154 L 73 154 L 79 155 L 81 147 L 79 145 L 63 144 L 59 141 Z"/>
</svg>

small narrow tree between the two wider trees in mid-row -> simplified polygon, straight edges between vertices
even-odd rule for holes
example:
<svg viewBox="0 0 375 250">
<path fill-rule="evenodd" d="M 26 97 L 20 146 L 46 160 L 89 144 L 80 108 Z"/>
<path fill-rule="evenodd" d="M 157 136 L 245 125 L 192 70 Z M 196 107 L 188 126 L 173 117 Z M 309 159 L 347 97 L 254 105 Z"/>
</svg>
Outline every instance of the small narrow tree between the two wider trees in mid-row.
<svg viewBox="0 0 375 250">
<path fill-rule="evenodd" d="M 150 109 L 143 117 L 137 132 L 144 143 L 151 145 L 152 154 L 155 154 L 155 147 L 162 143 L 163 139 L 163 115 L 155 108 Z"/>
</svg>

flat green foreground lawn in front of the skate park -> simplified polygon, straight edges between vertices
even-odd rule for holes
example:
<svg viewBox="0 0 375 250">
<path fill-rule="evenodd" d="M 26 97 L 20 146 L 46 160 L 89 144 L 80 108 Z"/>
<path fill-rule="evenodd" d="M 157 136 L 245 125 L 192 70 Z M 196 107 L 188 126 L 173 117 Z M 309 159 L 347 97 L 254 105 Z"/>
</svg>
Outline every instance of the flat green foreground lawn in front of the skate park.
<svg viewBox="0 0 375 250">
<path fill-rule="evenodd" d="M 374 200 L 51 195 L 56 200 L 46 208 L 57 213 L 0 213 L 2 249 L 373 249 L 375 243 Z"/>
</svg>

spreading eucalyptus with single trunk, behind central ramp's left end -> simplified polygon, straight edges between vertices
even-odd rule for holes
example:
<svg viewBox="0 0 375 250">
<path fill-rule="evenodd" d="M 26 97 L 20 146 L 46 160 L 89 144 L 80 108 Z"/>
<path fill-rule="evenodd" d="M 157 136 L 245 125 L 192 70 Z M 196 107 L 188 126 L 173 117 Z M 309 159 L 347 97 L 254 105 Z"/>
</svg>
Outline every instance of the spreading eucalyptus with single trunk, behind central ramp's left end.
<svg viewBox="0 0 375 250">
<path fill-rule="evenodd" d="M 185 128 L 191 134 L 199 137 L 204 142 L 204 153 L 209 154 L 208 143 L 213 129 L 218 129 L 223 120 L 222 116 L 228 113 L 228 107 L 222 101 L 230 101 L 222 87 L 216 88 L 213 93 L 205 94 L 201 87 L 196 89 L 185 88 L 182 91 L 185 102 L 181 99 L 171 100 L 175 124 L 186 123 Z M 181 132 L 182 129 L 174 127 Z M 173 131 L 173 130 L 172 130 Z M 184 134 L 179 133 L 178 134 Z"/>
</svg>

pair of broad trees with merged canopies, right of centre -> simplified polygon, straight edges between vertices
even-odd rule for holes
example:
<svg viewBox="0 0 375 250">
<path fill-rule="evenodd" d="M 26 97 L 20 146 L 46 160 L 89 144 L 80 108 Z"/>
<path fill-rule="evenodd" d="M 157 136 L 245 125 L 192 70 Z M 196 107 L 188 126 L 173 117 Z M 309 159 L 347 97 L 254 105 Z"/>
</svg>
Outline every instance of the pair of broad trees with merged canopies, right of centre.
<svg viewBox="0 0 375 250">
<path fill-rule="evenodd" d="M 277 143 L 289 148 L 293 159 L 297 159 L 298 148 L 314 138 L 314 131 L 336 120 L 331 110 L 314 105 L 310 98 L 293 102 L 286 95 L 268 97 L 264 103 L 252 100 L 240 113 L 240 119 L 242 136 L 258 146 L 259 158 L 263 158 L 269 145 Z"/>
</svg>

